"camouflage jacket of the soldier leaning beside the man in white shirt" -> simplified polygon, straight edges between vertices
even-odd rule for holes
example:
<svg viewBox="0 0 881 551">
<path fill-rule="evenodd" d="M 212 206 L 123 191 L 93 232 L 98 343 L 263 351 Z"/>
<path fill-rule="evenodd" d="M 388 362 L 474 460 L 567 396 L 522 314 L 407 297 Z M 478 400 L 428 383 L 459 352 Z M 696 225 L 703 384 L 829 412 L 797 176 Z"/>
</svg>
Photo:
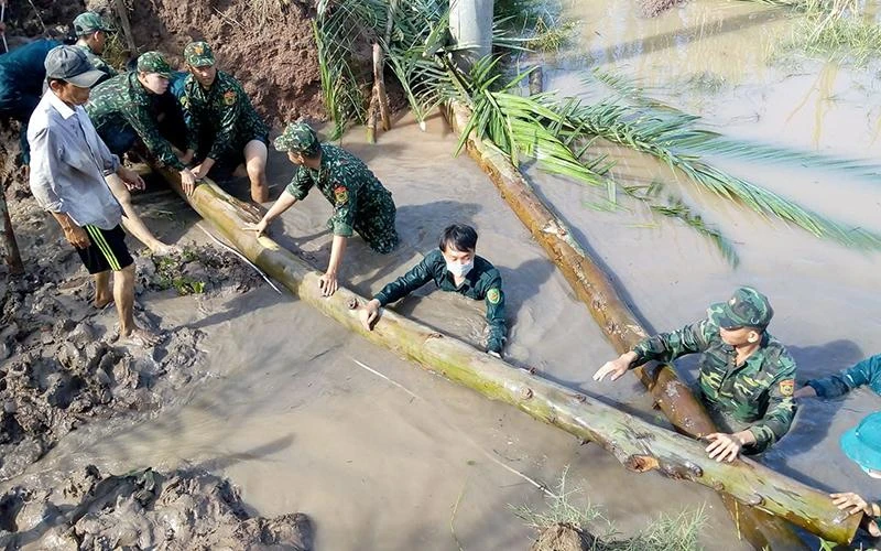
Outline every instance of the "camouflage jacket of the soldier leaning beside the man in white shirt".
<svg viewBox="0 0 881 551">
<path fill-rule="evenodd" d="M 130 127 L 162 164 L 182 171 L 184 164 L 159 131 L 151 96 L 138 80 L 138 73 L 123 73 L 91 90 L 86 111 L 99 134 L 124 131 Z"/>
</svg>

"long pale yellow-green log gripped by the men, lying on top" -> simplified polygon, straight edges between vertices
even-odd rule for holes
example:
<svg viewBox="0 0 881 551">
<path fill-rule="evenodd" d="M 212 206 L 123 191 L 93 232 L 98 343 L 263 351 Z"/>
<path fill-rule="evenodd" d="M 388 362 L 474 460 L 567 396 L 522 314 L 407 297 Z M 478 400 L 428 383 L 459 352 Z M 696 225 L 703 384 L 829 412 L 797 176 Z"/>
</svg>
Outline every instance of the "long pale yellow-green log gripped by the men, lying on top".
<svg viewBox="0 0 881 551">
<path fill-rule="evenodd" d="M 177 173 L 160 172 L 181 193 Z M 749 460 L 718 463 L 708 458 L 704 445 L 690 437 L 512 368 L 501 359 L 389 310 L 383 311 L 372 332 L 365 331 L 358 309 L 366 300 L 345 288 L 330 298 L 322 296 L 320 272 L 272 239 L 258 238 L 241 229 L 253 220 L 248 205 L 210 182 L 199 185 L 187 201 L 246 257 L 347 329 L 490 399 L 515 406 L 535 419 L 596 442 L 631 471 L 659 471 L 671 478 L 725 490 L 742 503 L 784 517 L 827 540 L 845 541 L 852 534 L 851 522 L 840 519 L 826 494 L 758 463 Z"/>
</svg>

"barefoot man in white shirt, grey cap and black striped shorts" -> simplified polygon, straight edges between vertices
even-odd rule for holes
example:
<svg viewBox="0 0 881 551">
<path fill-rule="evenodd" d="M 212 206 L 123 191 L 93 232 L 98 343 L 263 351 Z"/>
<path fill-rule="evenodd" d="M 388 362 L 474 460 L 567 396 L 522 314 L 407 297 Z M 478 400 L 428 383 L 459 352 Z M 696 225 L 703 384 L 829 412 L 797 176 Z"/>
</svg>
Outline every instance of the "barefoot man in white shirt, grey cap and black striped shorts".
<svg viewBox="0 0 881 551">
<path fill-rule="evenodd" d="M 143 188 L 144 183 L 110 153 L 81 107 L 104 73 L 73 46 L 50 51 L 45 67 L 48 89 L 28 128 L 31 192 L 95 277 L 95 305 L 116 302 L 120 337 L 152 346 L 159 336 L 134 323 L 134 261 L 119 225 L 122 208 L 104 177 L 116 173 L 130 190 Z"/>
</svg>

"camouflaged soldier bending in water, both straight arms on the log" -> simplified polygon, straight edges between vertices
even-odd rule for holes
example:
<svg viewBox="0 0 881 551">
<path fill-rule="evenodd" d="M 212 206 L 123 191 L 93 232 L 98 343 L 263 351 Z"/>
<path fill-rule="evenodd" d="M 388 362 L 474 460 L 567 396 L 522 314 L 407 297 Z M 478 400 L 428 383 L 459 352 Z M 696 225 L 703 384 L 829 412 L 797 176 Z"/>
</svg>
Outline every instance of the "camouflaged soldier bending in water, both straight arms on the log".
<svg viewBox="0 0 881 551">
<path fill-rule="evenodd" d="M 329 266 L 320 281 L 325 296 L 329 296 L 337 290 L 346 240 L 352 233 L 357 231 L 371 249 L 383 255 L 398 246 L 392 194 L 360 159 L 329 143 L 320 143 L 305 122 L 289 125 L 274 145 L 279 151 L 286 151 L 287 159 L 300 170 L 263 219 L 247 229 L 263 234 L 270 222 L 303 201 L 316 186 L 334 205 L 334 215 L 327 222 L 334 230 L 334 244 Z"/>
</svg>

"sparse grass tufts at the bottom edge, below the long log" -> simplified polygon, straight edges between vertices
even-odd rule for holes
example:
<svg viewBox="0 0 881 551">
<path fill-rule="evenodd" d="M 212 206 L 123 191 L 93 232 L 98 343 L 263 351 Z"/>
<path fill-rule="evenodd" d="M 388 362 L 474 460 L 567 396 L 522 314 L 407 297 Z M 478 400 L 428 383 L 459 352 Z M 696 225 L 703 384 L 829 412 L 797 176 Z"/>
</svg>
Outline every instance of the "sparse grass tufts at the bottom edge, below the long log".
<svg viewBox="0 0 881 551">
<path fill-rule="evenodd" d="M 682 511 L 675 516 L 661 515 L 649 527 L 628 539 L 620 533 L 601 510 L 587 501 L 578 505 L 580 488 L 567 489 L 567 469 L 563 471 L 555 491 L 547 491 L 546 509 L 534 510 L 527 506 L 511 506 L 514 515 L 536 530 L 561 526 L 574 530 L 591 551 L 697 551 L 698 536 L 707 522 L 703 508 Z M 599 533 L 597 533 L 599 532 Z"/>
</svg>

